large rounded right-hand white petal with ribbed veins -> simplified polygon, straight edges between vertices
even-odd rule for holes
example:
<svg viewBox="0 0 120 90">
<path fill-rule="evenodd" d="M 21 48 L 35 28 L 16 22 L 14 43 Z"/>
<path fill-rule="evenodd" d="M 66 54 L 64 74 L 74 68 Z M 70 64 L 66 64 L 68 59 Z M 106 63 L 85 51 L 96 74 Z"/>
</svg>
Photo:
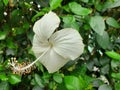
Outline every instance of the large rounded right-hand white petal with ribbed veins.
<svg viewBox="0 0 120 90">
<path fill-rule="evenodd" d="M 50 42 L 53 44 L 53 49 L 66 59 L 74 60 L 79 57 L 84 50 L 82 37 L 78 31 L 72 28 L 66 28 L 55 32 Z"/>
</svg>

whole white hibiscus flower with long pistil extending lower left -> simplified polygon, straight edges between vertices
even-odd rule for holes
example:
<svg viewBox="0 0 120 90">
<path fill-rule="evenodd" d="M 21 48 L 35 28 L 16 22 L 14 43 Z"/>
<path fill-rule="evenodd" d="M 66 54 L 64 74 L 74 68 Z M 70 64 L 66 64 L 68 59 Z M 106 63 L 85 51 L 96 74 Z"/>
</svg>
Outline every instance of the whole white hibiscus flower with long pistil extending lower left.
<svg viewBox="0 0 120 90">
<path fill-rule="evenodd" d="M 23 71 L 40 61 L 49 73 L 53 73 L 83 53 L 84 44 L 79 32 L 72 28 L 55 31 L 59 24 L 59 17 L 52 11 L 36 21 L 32 50 L 37 59 L 21 69 L 15 67 L 16 70 Z"/>
</svg>

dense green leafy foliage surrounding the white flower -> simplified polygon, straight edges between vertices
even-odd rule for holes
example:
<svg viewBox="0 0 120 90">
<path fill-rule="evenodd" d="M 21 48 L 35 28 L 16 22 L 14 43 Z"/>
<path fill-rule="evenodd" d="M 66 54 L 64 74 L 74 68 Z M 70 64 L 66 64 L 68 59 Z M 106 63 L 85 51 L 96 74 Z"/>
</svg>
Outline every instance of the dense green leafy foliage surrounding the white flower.
<svg viewBox="0 0 120 90">
<path fill-rule="evenodd" d="M 32 27 L 50 10 L 80 32 L 84 53 L 53 74 L 39 62 L 13 74 L 11 57 L 35 60 Z M 120 90 L 120 0 L 0 0 L 0 90 Z"/>
</svg>

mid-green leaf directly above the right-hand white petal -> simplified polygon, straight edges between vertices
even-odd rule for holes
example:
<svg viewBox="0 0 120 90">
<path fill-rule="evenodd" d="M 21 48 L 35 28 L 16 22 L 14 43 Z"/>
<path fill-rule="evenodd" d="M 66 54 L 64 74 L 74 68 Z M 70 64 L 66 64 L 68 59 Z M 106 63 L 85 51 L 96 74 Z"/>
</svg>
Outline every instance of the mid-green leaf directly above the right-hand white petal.
<svg viewBox="0 0 120 90">
<path fill-rule="evenodd" d="M 74 28 L 79 31 L 79 25 L 75 20 L 75 17 L 72 15 L 64 16 L 63 22 L 64 22 L 64 28 Z"/>
</svg>

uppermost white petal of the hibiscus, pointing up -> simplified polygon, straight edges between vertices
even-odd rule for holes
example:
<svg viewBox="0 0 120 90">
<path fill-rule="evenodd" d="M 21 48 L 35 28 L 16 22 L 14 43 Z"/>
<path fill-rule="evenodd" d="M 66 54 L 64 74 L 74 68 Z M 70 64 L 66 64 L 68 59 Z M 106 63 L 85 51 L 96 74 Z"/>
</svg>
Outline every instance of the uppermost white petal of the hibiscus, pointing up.
<svg viewBox="0 0 120 90">
<path fill-rule="evenodd" d="M 55 29 L 59 26 L 60 19 L 53 13 L 45 14 L 40 20 L 36 21 L 33 26 L 33 31 L 40 37 L 41 40 L 47 40 Z"/>
</svg>

